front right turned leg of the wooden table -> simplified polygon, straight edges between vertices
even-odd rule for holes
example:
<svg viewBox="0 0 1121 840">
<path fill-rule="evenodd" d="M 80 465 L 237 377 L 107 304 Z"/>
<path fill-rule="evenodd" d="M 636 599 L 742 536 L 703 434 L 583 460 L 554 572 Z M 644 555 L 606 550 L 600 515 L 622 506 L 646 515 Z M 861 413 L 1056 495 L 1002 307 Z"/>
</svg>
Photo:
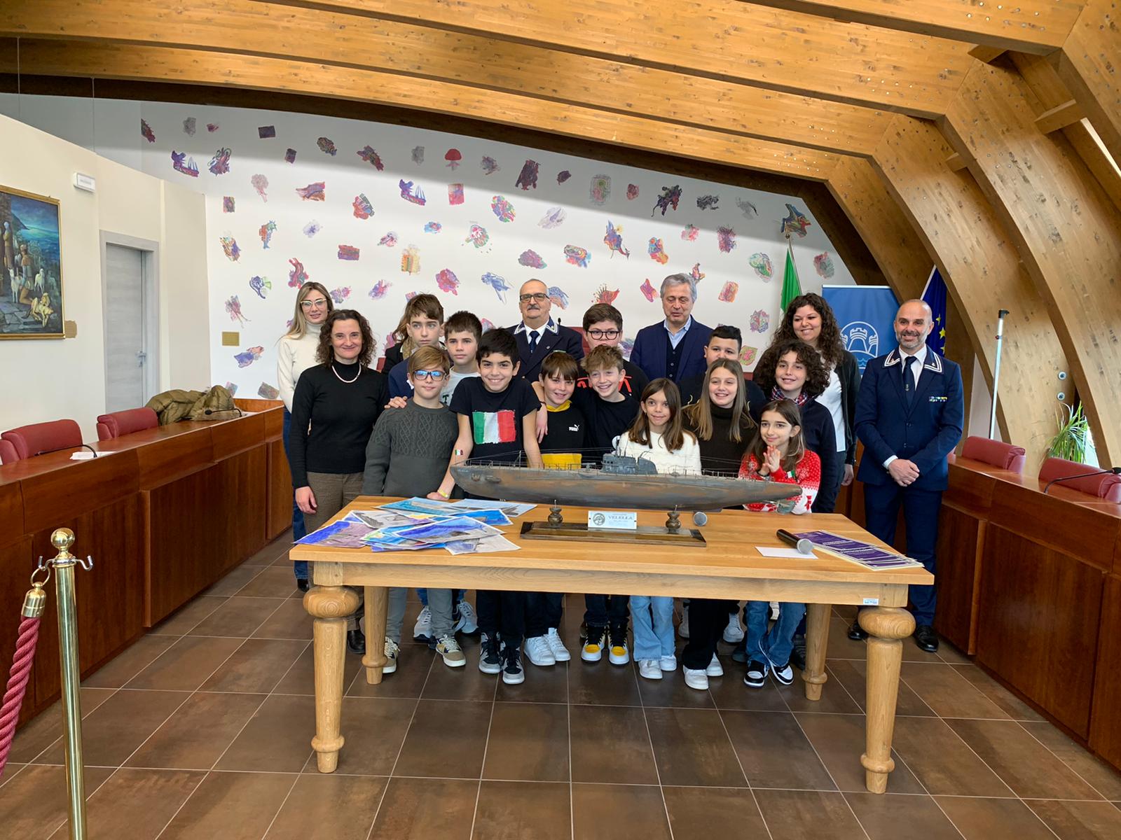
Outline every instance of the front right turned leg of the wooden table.
<svg viewBox="0 0 1121 840">
<path fill-rule="evenodd" d="M 915 618 L 900 607 L 874 607 L 860 612 L 860 626 L 869 633 L 868 720 L 860 763 L 864 766 L 864 786 L 872 793 L 883 793 L 888 790 L 888 774 L 896 768 L 891 736 L 904 657 L 901 640 L 915 632 Z"/>
</svg>

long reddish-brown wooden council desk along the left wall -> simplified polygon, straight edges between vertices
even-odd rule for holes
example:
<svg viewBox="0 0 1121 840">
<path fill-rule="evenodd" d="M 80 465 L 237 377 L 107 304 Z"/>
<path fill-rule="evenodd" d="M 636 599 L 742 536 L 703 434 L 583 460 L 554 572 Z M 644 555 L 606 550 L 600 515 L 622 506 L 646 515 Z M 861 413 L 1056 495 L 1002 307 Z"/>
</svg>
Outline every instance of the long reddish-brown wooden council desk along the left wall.
<svg viewBox="0 0 1121 840">
<path fill-rule="evenodd" d="M 287 463 L 274 464 L 281 409 L 224 422 L 183 422 L 0 467 L 0 615 L 16 616 L 56 528 L 77 535 L 92 572 L 75 577 L 82 673 L 87 674 L 284 532 L 291 511 Z M 276 489 L 284 483 L 282 489 Z M 276 497 L 279 496 L 279 500 Z M 53 594 L 52 594 L 53 598 Z M 50 607 L 53 615 L 54 607 Z M 0 620 L 0 656 L 15 643 Z M 40 655 L 22 719 L 58 696 L 57 626 L 40 627 Z"/>
</svg>

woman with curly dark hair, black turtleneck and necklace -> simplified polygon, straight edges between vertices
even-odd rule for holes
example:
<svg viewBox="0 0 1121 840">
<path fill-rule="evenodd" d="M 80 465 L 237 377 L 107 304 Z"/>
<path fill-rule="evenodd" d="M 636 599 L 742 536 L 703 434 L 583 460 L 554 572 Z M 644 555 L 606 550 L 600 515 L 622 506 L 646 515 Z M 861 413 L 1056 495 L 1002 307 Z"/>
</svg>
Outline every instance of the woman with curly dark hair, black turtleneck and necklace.
<svg viewBox="0 0 1121 840">
<path fill-rule="evenodd" d="M 354 309 L 336 309 L 319 330 L 318 364 L 296 383 L 288 463 L 308 532 L 362 492 L 365 446 L 389 399 L 385 374 L 369 367 L 373 354 L 367 319 Z M 365 638 L 356 620 L 348 631 L 348 647 L 363 653 Z"/>
</svg>

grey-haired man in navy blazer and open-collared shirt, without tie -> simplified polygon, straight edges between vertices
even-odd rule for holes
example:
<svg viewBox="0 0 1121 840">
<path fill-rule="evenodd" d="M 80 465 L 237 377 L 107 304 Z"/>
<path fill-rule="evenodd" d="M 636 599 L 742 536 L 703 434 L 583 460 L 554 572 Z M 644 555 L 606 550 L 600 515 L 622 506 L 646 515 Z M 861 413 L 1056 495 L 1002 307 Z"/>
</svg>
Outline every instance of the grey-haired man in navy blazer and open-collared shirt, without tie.
<svg viewBox="0 0 1121 840">
<path fill-rule="evenodd" d="M 705 372 L 704 347 L 712 327 L 693 320 L 696 301 L 697 283 L 689 274 L 670 274 L 661 281 L 666 319 L 638 332 L 630 358 L 651 380 L 667 376 L 679 383 Z"/>
</svg>

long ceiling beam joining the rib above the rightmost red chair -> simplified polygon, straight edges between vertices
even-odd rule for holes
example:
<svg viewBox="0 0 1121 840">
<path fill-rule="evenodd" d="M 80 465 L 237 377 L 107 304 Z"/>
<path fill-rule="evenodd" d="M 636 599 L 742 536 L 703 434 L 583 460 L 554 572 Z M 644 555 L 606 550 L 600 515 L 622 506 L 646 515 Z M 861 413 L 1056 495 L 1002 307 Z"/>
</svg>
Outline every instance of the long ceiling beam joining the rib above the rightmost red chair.
<svg viewBox="0 0 1121 840">
<path fill-rule="evenodd" d="M 275 0 L 471 32 L 921 116 L 953 99 L 969 45 L 739 0 Z"/>
</svg>

